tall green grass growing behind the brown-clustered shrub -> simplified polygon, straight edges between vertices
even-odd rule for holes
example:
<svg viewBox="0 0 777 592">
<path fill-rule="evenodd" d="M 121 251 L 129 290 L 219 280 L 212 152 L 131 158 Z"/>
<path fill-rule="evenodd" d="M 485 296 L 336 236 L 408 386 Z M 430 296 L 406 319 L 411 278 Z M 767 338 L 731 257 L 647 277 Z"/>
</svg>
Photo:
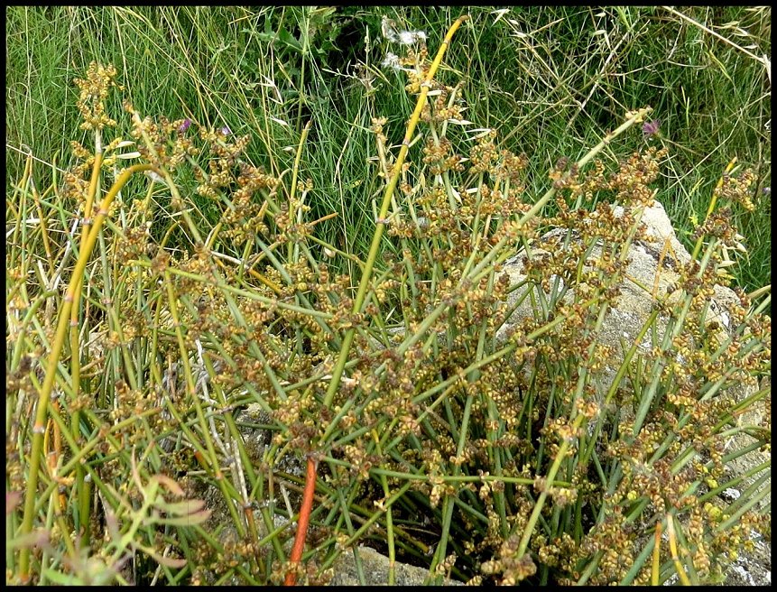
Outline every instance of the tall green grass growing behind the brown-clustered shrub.
<svg viewBox="0 0 777 592">
<path fill-rule="evenodd" d="M 274 146 L 294 145 L 312 120 L 310 205 L 321 215 L 339 213 L 322 228 L 330 242 L 365 253 L 379 190 L 364 174 L 369 122 L 388 116 L 389 139 L 399 142 L 411 107 L 402 79 L 380 67 L 392 49 L 380 34 L 383 11 L 6 11 L 7 179 L 22 171 L 23 146 L 42 162 L 56 156 L 66 168 L 69 139 L 85 137 L 69 108 L 76 96 L 70 81 L 98 58 L 117 65 L 143 113 L 250 133 L 248 157 L 276 174 L 292 153 Z M 758 208 L 738 215 L 749 254 L 736 277 L 746 291 L 771 282 L 771 199 L 761 193 L 771 188 L 771 83 L 762 60 L 771 53 L 768 8 L 696 7 L 684 13 L 695 23 L 658 7 L 474 7 L 471 14 L 447 67 L 466 80 L 467 117 L 498 125 L 505 148 L 531 156 L 538 190 L 560 154 L 577 158 L 614 118 L 650 105 L 661 121 L 659 142 L 671 148 L 657 198 L 687 246 L 690 219 L 706 213 L 727 162 L 736 157 L 755 168 Z M 389 15 L 428 32 L 435 46 L 458 13 L 414 7 Z M 441 79 L 447 77 L 456 75 L 443 71 Z"/>
</svg>

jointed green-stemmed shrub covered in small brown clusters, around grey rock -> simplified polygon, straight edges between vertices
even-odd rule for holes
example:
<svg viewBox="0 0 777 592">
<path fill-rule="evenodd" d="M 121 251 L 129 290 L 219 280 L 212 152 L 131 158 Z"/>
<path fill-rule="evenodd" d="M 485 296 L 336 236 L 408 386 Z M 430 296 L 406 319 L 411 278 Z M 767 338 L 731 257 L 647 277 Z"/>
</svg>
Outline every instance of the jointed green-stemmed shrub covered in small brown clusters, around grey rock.
<svg viewBox="0 0 777 592">
<path fill-rule="evenodd" d="M 42 191 L 31 158 L 6 200 L 6 581 L 323 583 L 370 544 L 388 583 L 396 560 L 429 581 L 698 583 L 771 536 L 768 461 L 726 477 L 769 447 L 769 297 L 708 319 L 748 173 L 721 179 L 602 392 L 602 322 L 666 153 L 597 160 L 640 109 L 532 195 L 527 157 L 467 134 L 460 87 L 436 79 L 464 20 L 433 60 L 398 59 L 416 106 L 398 152 L 375 114 L 366 254 L 309 217 L 315 121 L 276 177 L 249 136 L 129 100 L 118 137 L 116 70 L 77 80 L 93 145 Z M 533 303 L 519 322 L 515 295 Z M 760 424 L 739 421 L 756 405 Z M 725 450 L 739 432 L 753 444 Z"/>
</svg>

